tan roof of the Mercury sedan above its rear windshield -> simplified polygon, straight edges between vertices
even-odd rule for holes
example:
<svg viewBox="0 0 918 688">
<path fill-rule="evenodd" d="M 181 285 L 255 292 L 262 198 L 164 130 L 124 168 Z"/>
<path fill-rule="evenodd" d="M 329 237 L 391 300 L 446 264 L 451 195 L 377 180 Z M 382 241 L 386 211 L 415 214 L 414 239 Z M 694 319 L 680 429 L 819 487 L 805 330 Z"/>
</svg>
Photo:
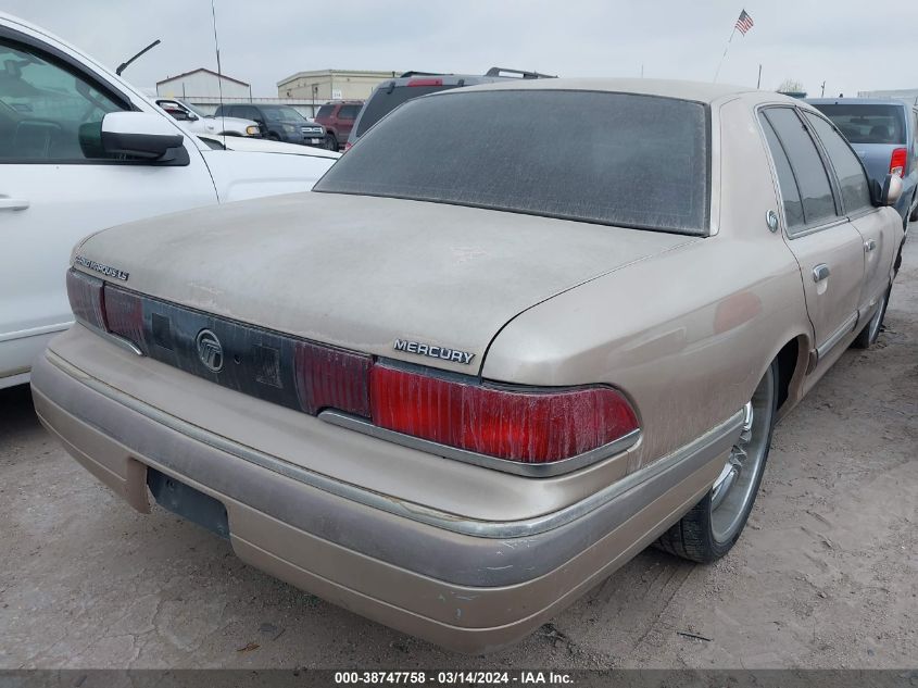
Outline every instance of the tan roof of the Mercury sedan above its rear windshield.
<svg viewBox="0 0 918 688">
<path fill-rule="evenodd" d="M 480 86 L 466 86 L 463 91 L 480 90 L 581 90 L 608 91 L 612 93 L 638 93 L 661 96 L 679 100 L 712 103 L 716 100 L 740 93 L 759 92 L 749 86 L 710 84 L 705 82 L 682 82 L 676 79 L 642 78 L 553 78 L 553 79 L 501 79 Z M 438 96 L 454 96 L 457 90 L 443 91 Z M 779 98 L 787 98 L 776 93 Z M 793 99 L 788 98 L 793 101 Z M 793 101 L 796 102 L 796 101 Z"/>
</svg>

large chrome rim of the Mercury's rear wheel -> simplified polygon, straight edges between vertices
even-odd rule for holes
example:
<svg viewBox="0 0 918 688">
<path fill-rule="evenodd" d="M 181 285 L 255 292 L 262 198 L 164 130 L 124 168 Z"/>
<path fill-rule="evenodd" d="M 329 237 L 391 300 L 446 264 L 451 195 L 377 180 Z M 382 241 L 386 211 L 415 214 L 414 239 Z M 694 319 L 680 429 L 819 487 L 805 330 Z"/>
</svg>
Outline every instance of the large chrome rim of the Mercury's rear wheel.
<svg viewBox="0 0 918 688">
<path fill-rule="evenodd" d="M 710 526 L 717 542 L 729 542 L 743 526 L 765 466 L 774 413 L 775 380 L 769 373 L 743 406 L 743 427 L 710 490 Z"/>
</svg>

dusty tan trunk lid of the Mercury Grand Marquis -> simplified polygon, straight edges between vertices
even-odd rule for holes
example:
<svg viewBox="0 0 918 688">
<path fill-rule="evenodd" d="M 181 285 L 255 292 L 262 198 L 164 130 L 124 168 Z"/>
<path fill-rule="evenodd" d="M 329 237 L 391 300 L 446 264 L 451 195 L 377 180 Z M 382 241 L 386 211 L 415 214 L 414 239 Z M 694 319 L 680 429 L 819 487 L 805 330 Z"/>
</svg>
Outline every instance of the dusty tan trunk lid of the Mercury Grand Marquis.
<svg viewBox="0 0 918 688">
<path fill-rule="evenodd" d="M 122 271 L 128 279 L 116 286 L 183 309 L 477 373 L 490 341 L 518 313 L 697 240 L 440 203 L 298 193 L 131 223 L 93 235 L 75 254 L 84 272 L 92 274 L 86 265 L 93 262 Z"/>
</svg>

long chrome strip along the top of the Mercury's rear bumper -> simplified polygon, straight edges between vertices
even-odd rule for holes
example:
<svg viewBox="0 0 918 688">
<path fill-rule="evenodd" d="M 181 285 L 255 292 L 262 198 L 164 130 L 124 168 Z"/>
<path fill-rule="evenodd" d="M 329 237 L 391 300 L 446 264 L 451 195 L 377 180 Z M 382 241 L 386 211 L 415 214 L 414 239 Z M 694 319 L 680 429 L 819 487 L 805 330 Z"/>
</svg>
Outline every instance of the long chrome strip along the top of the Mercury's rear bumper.
<svg viewBox="0 0 918 688">
<path fill-rule="evenodd" d="M 657 459 L 653 463 L 639 468 L 633 473 L 629 473 L 621 479 L 612 483 L 605 488 L 593 492 L 589 497 L 580 500 L 579 502 L 569 504 L 564 509 L 559 509 L 541 516 L 518 521 L 478 521 L 463 518 L 456 514 L 438 511 L 423 504 L 391 499 L 379 492 L 374 492 L 362 487 L 336 480 L 320 473 L 309 471 L 294 465 L 289 461 L 284 461 L 277 456 L 240 445 L 239 442 L 235 442 L 226 437 L 205 430 L 202 427 L 192 425 L 187 421 L 183 421 L 169 413 L 151 406 L 150 404 L 92 377 L 75 365 L 68 363 L 53 351 L 47 351 L 46 356 L 48 362 L 54 367 L 99 395 L 126 406 L 141 416 L 149 418 L 153 423 L 163 425 L 171 430 L 212 447 L 213 449 L 226 452 L 237 459 L 248 461 L 268 471 L 273 471 L 309 487 L 323 490 L 342 499 L 357 502 L 365 506 L 370 506 L 395 516 L 416 521 L 424 525 L 451 530 L 460 535 L 481 538 L 519 538 L 548 533 L 578 521 L 600 506 L 623 497 L 626 492 L 629 492 L 650 480 L 662 478 L 663 474 L 680 466 L 682 463 L 706 463 L 713 461 L 717 458 L 717 455 L 712 452 L 722 441 L 734 440 L 739 435 L 743 422 L 743 411 L 740 409 L 729 418 L 718 423 L 713 428 L 703 433 L 687 445 L 682 445 L 669 454 Z M 75 416 L 80 417 L 78 412 L 75 413 Z M 85 423 L 88 422 L 85 418 L 80 420 Z M 127 440 L 129 442 L 129 438 L 115 437 L 108 430 L 100 428 L 95 424 L 90 423 L 90 425 L 117 441 L 124 443 Z"/>
</svg>

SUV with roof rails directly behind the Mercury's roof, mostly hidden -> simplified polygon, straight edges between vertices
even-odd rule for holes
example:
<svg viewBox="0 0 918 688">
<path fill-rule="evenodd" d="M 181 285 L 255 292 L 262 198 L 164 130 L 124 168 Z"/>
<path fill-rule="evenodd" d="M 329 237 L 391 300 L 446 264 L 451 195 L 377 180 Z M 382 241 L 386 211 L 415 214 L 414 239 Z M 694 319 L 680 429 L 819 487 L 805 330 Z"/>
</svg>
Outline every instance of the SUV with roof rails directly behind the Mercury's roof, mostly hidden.
<svg viewBox="0 0 918 688">
<path fill-rule="evenodd" d="M 370 93 L 369 99 L 361 108 L 357 118 L 350 129 L 350 135 L 345 139 L 348 141 L 347 148 L 356 143 L 357 139 L 366 134 L 369 127 L 408 100 L 453 88 L 462 88 L 463 86 L 493 84 L 510 78 L 538 79 L 556 77 L 549 74 L 539 74 L 538 72 L 523 72 L 504 67 L 491 67 L 483 75 L 405 72 L 399 78 L 382 82 L 373 89 L 373 93 Z"/>
</svg>

